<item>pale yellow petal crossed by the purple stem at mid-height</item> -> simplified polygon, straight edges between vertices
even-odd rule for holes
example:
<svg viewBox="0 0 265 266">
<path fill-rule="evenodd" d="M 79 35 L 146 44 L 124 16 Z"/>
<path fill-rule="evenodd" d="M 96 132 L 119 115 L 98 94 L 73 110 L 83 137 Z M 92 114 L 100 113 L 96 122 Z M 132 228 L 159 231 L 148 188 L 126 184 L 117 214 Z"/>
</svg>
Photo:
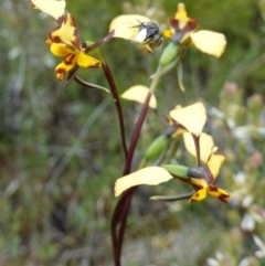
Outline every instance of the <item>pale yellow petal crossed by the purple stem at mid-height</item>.
<svg viewBox="0 0 265 266">
<path fill-rule="evenodd" d="M 142 85 L 135 85 L 124 92 L 120 97 L 124 99 L 135 100 L 140 104 L 146 102 L 147 95 L 149 94 L 149 88 Z M 157 99 L 156 96 L 152 95 L 149 102 L 149 107 L 156 109 L 157 108 Z"/>
</svg>

